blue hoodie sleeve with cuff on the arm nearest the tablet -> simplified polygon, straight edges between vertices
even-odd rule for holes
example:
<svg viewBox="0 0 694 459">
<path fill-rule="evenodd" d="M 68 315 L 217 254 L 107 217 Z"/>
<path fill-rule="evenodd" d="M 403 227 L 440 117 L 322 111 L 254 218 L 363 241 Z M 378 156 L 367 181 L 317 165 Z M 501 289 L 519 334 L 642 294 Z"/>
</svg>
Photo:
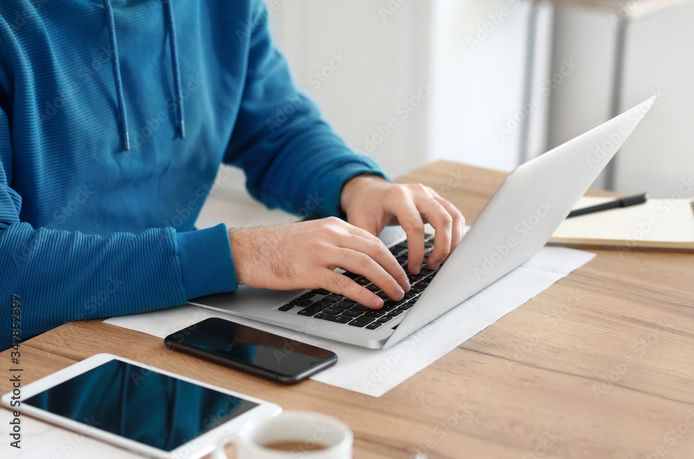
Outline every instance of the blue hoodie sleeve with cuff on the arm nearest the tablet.
<svg viewBox="0 0 694 459">
<path fill-rule="evenodd" d="M 65 322 L 147 312 L 237 288 L 223 224 L 110 237 L 33 228 L 20 219 L 22 197 L 11 183 L 10 130 L 0 108 L 0 350 Z"/>
</svg>

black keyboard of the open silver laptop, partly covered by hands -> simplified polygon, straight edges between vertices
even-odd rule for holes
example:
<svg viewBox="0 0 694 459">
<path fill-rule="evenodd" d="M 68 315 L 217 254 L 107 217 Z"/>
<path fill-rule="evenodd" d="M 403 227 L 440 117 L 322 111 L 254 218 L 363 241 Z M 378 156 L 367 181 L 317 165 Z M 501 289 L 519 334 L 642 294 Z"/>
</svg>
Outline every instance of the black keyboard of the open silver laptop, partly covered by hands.
<svg viewBox="0 0 694 459">
<path fill-rule="evenodd" d="M 428 287 L 432 278 L 436 276 L 441 266 L 438 269 L 429 269 L 426 267 L 429 254 L 434 247 L 434 235 L 425 234 L 424 238 L 424 261 L 419 274 L 410 274 L 407 269 L 407 241 L 398 242 L 398 244 L 389 247 L 389 251 L 395 256 L 400 266 L 405 269 L 409 283 L 412 285 L 409 292 L 400 301 L 390 299 L 385 292 L 382 292 L 378 285 L 369 281 L 369 279 L 359 274 L 345 272 L 344 275 L 352 278 L 359 285 L 364 285 L 384 300 L 383 307 L 380 309 L 371 309 L 366 306 L 348 299 L 340 294 L 328 292 L 324 289 L 307 290 L 299 297 L 287 301 L 281 305 L 278 310 L 288 312 L 290 314 L 298 314 L 305 317 L 314 317 L 315 319 L 335 322 L 335 324 L 344 324 L 346 326 L 364 327 L 369 330 L 375 330 L 383 324 L 387 324 L 393 318 L 399 315 L 406 314 L 409 308 L 414 306 L 421 293 Z M 443 263 L 441 263 L 443 265 Z"/>
</svg>

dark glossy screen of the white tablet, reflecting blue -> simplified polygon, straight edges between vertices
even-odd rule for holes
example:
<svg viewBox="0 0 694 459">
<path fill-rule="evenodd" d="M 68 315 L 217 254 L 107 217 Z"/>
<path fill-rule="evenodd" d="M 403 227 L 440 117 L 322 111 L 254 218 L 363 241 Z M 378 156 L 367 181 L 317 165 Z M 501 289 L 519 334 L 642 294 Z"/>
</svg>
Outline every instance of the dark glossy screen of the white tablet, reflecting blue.
<svg viewBox="0 0 694 459">
<path fill-rule="evenodd" d="M 22 403 L 163 451 L 257 406 L 120 360 L 110 360 Z"/>
</svg>

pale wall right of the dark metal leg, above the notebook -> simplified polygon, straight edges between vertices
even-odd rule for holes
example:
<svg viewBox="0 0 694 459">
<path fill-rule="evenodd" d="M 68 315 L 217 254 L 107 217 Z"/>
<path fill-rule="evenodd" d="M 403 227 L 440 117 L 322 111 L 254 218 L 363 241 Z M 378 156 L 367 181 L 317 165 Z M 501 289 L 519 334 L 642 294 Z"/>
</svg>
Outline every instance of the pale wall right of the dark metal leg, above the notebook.
<svg viewBox="0 0 694 459">
<path fill-rule="evenodd" d="M 623 109 L 661 99 L 629 137 L 616 188 L 671 197 L 694 179 L 694 3 L 634 22 L 627 35 Z M 694 197 L 688 187 L 687 196 Z"/>
</svg>

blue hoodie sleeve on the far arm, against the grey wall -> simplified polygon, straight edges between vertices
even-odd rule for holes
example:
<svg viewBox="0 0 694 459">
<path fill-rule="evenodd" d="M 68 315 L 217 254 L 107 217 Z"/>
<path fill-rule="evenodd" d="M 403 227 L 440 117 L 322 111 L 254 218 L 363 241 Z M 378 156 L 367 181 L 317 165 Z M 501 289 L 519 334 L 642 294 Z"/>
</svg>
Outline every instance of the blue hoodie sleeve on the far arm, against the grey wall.
<svg viewBox="0 0 694 459">
<path fill-rule="evenodd" d="M 264 2 L 253 4 L 253 31 L 239 37 L 250 47 L 248 72 L 225 162 L 245 170 L 248 191 L 269 208 L 339 215 L 346 181 L 385 174 L 371 158 L 353 153 L 297 90 L 271 43 Z"/>
</svg>

